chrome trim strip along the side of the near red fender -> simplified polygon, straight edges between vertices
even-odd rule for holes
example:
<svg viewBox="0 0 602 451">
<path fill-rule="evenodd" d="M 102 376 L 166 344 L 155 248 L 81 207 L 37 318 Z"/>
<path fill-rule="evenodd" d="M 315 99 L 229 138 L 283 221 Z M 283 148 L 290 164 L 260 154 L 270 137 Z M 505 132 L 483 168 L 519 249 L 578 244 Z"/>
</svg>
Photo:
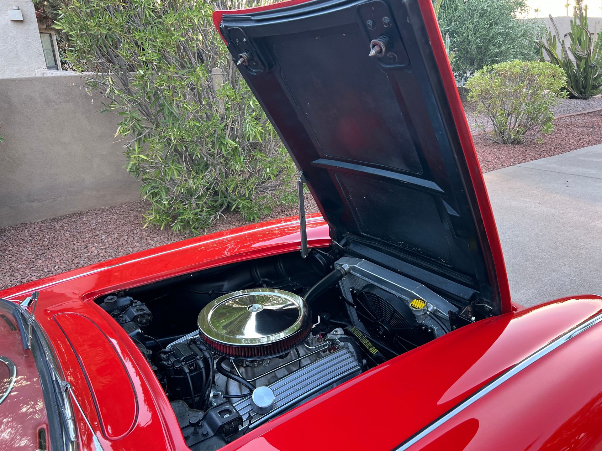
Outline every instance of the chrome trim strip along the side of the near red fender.
<svg viewBox="0 0 602 451">
<path fill-rule="evenodd" d="M 394 451 L 405 451 L 405 450 L 409 449 L 409 447 L 418 443 L 418 441 L 422 440 L 424 437 L 429 435 L 431 432 L 435 431 L 435 429 L 437 429 L 439 426 L 443 425 L 448 420 L 452 419 L 453 417 L 455 417 L 456 415 L 461 413 L 465 408 L 469 407 L 471 404 L 473 404 L 477 400 L 481 399 L 483 396 L 488 394 L 490 391 L 495 390 L 495 388 L 499 387 L 501 384 L 506 382 L 512 376 L 516 375 L 517 373 L 524 370 L 526 367 L 535 363 L 540 358 L 544 357 L 544 355 L 547 355 L 551 351 L 554 351 L 554 349 L 558 348 L 559 346 L 562 346 L 564 343 L 568 342 L 568 340 L 576 337 L 583 331 L 588 330 L 593 325 L 598 324 L 600 321 L 602 321 L 602 313 L 598 314 L 597 316 L 594 316 L 594 318 L 591 318 L 585 322 L 582 322 L 582 324 L 577 325 L 576 327 L 569 330 L 565 334 L 562 334 L 560 337 L 557 337 L 552 342 L 545 345 L 543 348 L 539 349 L 538 351 L 533 352 L 533 354 L 529 355 L 529 357 L 520 361 L 515 366 L 513 366 L 512 368 L 507 370 L 505 373 L 502 373 L 500 376 L 498 376 L 497 379 L 494 379 L 493 381 L 489 382 L 489 384 L 485 385 L 484 387 L 477 390 L 475 393 L 471 394 L 471 396 L 467 397 L 467 399 L 465 399 L 464 401 L 459 403 L 456 407 L 454 407 L 448 413 L 444 414 L 444 416 L 440 417 L 434 423 L 431 423 L 429 426 L 424 428 L 422 431 L 420 431 L 417 434 L 413 435 L 412 437 L 408 438 L 408 440 L 406 440 L 405 442 L 400 444 L 400 446 L 395 448 Z"/>
</svg>

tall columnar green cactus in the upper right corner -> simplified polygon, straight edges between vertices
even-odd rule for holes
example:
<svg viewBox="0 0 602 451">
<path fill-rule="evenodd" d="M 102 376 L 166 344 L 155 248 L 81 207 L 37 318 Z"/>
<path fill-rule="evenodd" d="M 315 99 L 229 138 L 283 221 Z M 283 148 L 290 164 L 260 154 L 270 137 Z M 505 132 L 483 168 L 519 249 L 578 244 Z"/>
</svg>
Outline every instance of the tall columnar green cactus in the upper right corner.
<svg viewBox="0 0 602 451">
<path fill-rule="evenodd" d="M 567 50 L 564 39 L 560 40 L 560 55 L 557 53 L 557 37 L 560 37 L 560 32 L 551 15 L 550 20 L 556 34 L 552 35 L 552 32 L 548 31 L 545 40 L 536 41 L 539 46 L 539 58 L 545 61 L 545 51 L 550 63 L 560 66 L 565 71 L 569 97 L 589 99 L 597 94 L 602 86 L 602 72 L 595 62 L 600 46 L 595 45 L 597 37 L 588 29 L 588 7 L 584 8 L 582 1 L 577 1 L 573 10 L 571 31 L 568 34 L 571 44 Z"/>
</svg>

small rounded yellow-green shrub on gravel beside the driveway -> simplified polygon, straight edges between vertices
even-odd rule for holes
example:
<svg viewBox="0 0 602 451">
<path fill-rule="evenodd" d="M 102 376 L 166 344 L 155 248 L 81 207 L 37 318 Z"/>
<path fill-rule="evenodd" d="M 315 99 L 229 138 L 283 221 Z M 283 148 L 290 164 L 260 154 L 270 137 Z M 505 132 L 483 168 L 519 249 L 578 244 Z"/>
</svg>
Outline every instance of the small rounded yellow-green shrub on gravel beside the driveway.
<svg viewBox="0 0 602 451">
<path fill-rule="evenodd" d="M 553 130 L 551 108 L 566 97 L 565 74 L 541 61 L 508 61 L 485 66 L 466 83 L 474 114 L 485 117 L 479 127 L 492 141 L 520 144 Z M 493 129 L 488 130 L 489 123 Z M 530 133 L 527 136 L 527 133 Z"/>
</svg>

